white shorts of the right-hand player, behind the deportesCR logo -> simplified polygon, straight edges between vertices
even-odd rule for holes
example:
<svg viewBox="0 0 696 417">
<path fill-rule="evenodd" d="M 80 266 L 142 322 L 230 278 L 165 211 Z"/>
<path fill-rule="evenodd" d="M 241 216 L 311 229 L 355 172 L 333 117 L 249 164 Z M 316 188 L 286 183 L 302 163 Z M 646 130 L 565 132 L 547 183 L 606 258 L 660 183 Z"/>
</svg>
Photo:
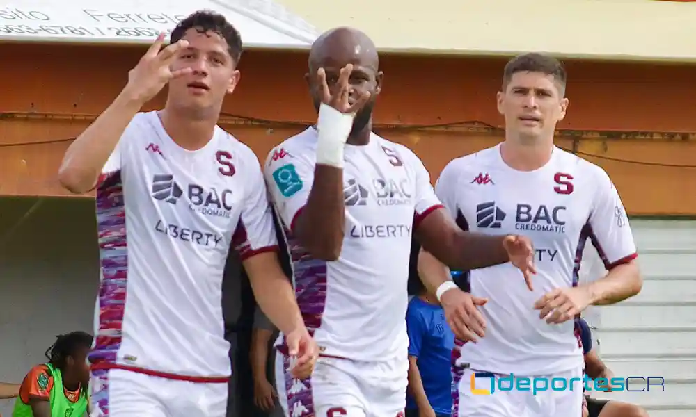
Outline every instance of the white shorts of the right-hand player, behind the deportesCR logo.
<svg viewBox="0 0 696 417">
<path fill-rule="evenodd" d="M 581 417 L 583 416 L 583 382 L 576 381 L 574 389 L 564 391 L 537 390 L 536 394 L 530 388 L 529 391 L 512 389 L 510 391 L 495 391 L 486 394 L 490 390 L 490 379 L 475 378 L 475 391 L 485 390 L 480 393 L 472 393 L 472 377 L 476 371 L 466 368 L 454 369 L 452 388 L 457 390 L 453 396 L 452 417 Z M 496 387 L 500 377 L 495 375 Z M 571 378 L 583 378 L 581 369 L 571 370 L 553 375 L 537 375 L 549 383 L 553 378 L 564 379 L 569 382 Z M 530 377 L 535 379 L 535 377 Z M 533 386 L 532 384 L 530 384 Z M 539 381 L 543 386 L 544 381 Z M 503 382 L 503 386 L 508 386 Z M 456 387 L 456 388 L 455 388 Z M 458 394 L 458 395 L 457 395 Z"/>
</svg>

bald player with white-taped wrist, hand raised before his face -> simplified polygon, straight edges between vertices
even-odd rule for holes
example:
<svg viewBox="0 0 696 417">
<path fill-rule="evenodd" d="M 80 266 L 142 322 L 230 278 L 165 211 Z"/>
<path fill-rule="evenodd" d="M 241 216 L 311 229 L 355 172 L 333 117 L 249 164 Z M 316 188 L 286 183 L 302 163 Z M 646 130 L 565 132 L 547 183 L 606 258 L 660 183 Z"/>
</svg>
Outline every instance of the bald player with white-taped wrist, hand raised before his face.
<svg viewBox="0 0 696 417">
<path fill-rule="evenodd" d="M 273 149 L 264 174 L 291 252 L 298 304 L 321 357 L 312 377 L 295 379 L 280 343 L 280 403 L 293 417 L 402 416 L 411 235 L 455 269 L 512 262 L 522 270 L 519 280 L 534 272 L 532 246 L 519 236 L 458 229 L 418 156 L 372 133 L 383 73 L 364 33 L 324 33 L 310 51 L 306 77 L 317 124 Z M 447 289 L 429 288 L 438 295 Z M 442 300 L 454 311 L 458 300 Z"/>
</svg>

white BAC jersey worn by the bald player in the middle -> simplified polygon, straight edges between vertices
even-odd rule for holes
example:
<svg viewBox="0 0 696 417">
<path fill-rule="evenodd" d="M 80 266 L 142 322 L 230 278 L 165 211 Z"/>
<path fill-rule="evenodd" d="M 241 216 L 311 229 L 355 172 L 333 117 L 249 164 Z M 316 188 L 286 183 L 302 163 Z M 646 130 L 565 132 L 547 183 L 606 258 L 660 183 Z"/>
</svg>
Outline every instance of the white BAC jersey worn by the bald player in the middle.
<svg viewBox="0 0 696 417">
<path fill-rule="evenodd" d="M 297 302 L 322 354 L 354 360 L 406 358 L 406 306 L 413 227 L 441 207 L 422 162 L 374 133 L 345 146 L 345 238 L 340 258 L 313 259 L 292 233 L 315 170 L 317 131 L 276 147 L 265 176 L 293 264 Z"/>
</svg>

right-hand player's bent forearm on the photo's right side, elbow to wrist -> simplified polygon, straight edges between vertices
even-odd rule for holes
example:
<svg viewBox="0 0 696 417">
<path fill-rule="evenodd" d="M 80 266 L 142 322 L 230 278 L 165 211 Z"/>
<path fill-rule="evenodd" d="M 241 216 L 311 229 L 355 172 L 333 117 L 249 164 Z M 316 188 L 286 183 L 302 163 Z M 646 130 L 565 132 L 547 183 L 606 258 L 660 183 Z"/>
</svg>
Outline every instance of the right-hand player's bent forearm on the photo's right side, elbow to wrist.
<svg viewBox="0 0 696 417">
<path fill-rule="evenodd" d="M 617 265 L 608 274 L 586 285 L 592 305 L 615 304 L 640 293 L 643 279 L 635 261 Z"/>
</svg>

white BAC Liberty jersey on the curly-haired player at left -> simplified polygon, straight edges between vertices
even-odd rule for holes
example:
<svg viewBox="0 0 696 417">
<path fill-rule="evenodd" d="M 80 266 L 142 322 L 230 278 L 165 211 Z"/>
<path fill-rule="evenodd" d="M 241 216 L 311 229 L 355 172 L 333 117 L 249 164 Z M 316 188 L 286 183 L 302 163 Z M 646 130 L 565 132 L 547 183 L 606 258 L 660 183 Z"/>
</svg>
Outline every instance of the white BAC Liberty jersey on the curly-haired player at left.
<svg viewBox="0 0 696 417">
<path fill-rule="evenodd" d="M 136 115 L 103 172 L 90 362 L 229 375 L 221 301 L 228 251 L 244 259 L 277 245 L 258 158 L 217 127 L 205 147 L 187 151 L 153 111 Z"/>
</svg>

